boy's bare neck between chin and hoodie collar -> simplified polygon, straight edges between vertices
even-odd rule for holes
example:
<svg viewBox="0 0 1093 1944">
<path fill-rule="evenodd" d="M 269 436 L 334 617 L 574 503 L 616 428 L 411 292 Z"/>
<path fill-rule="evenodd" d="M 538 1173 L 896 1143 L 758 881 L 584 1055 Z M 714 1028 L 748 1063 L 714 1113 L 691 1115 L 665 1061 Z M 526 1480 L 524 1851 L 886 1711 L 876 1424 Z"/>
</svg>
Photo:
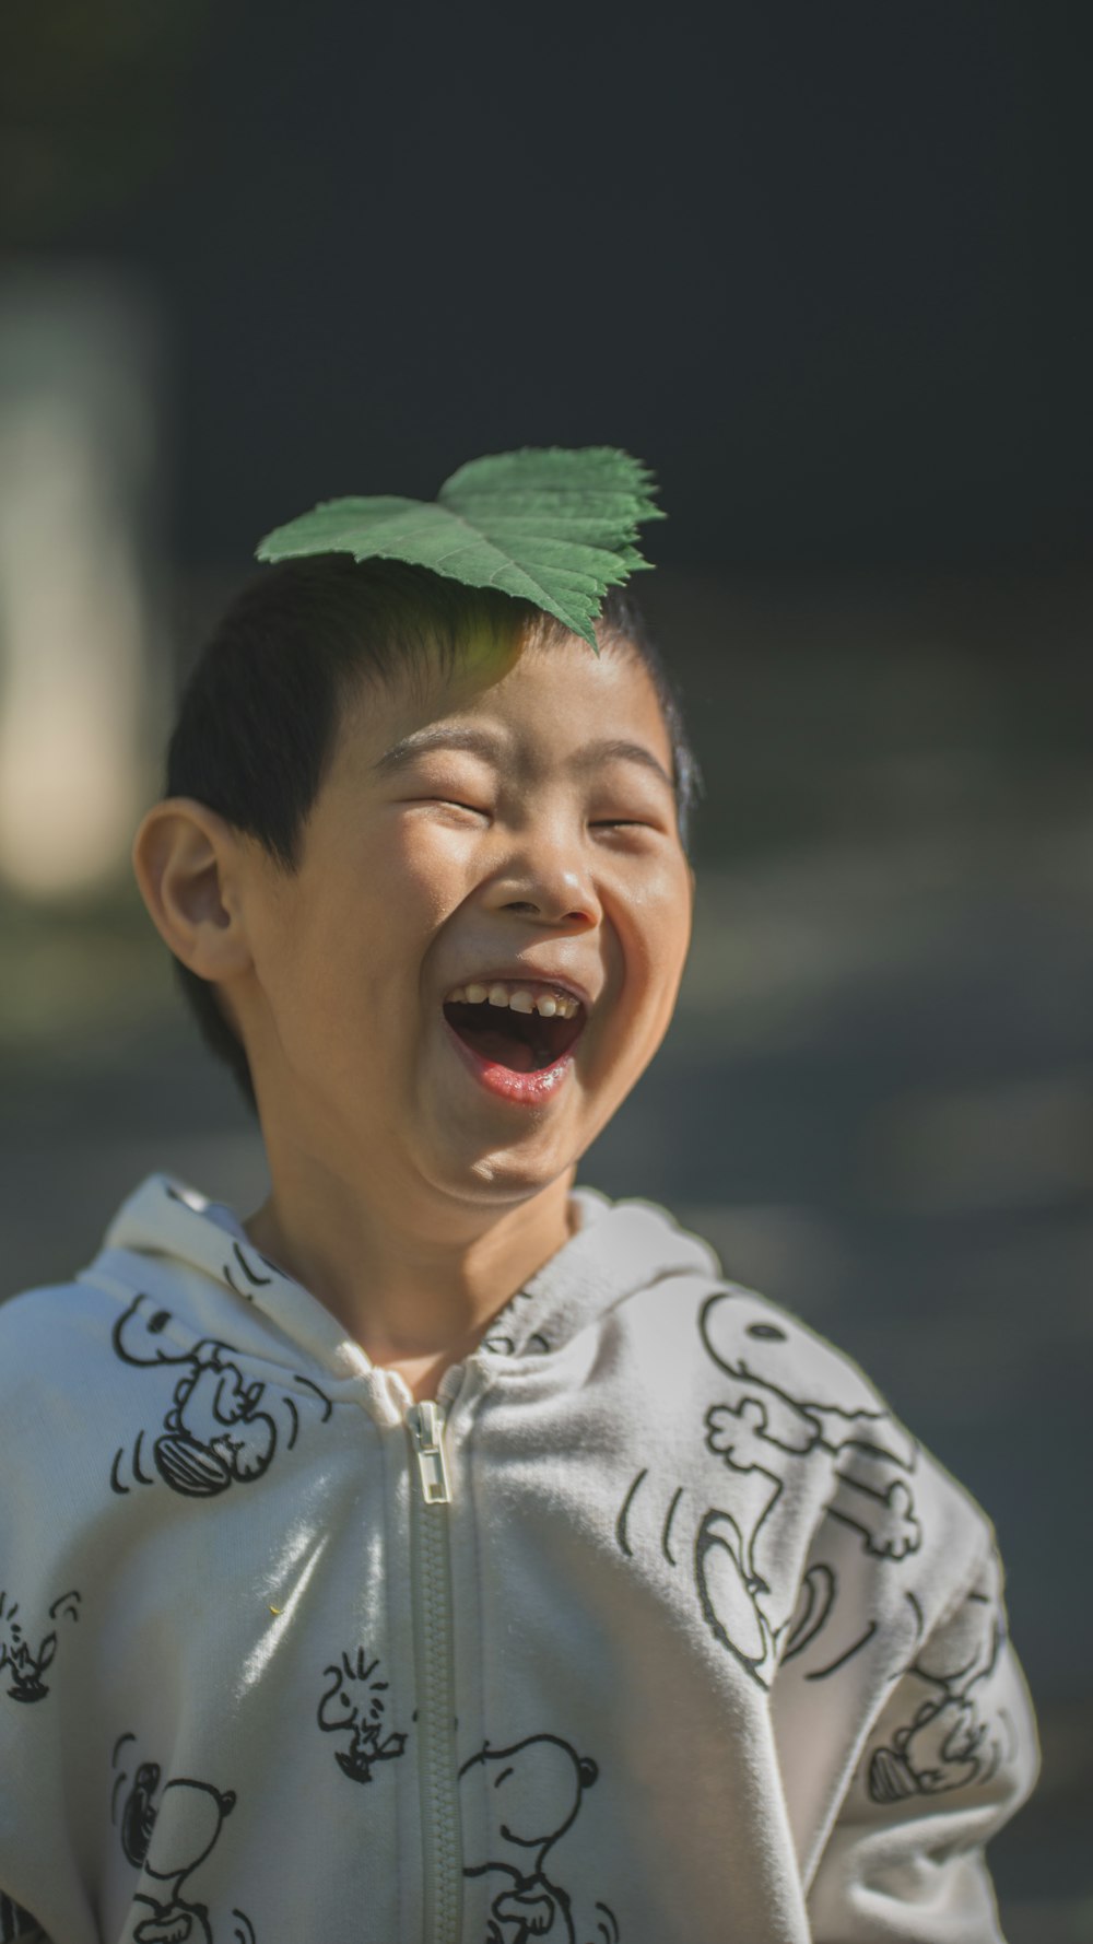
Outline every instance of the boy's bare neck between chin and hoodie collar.
<svg viewBox="0 0 1093 1944">
<path fill-rule="evenodd" d="M 243 1225 L 371 1363 L 434 1398 L 492 1318 L 572 1234 L 574 1168 L 500 1211 L 366 1196 L 344 1176 L 270 1153 L 268 1201 Z"/>
</svg>

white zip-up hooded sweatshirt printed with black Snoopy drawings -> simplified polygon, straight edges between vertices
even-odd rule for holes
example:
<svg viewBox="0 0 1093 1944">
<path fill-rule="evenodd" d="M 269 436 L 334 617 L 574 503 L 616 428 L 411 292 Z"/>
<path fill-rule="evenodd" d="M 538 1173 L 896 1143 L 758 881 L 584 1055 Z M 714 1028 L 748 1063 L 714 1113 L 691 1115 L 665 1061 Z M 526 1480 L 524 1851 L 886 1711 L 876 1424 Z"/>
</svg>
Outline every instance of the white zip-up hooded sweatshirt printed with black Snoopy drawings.
<svg viewBox="0 0 1093 1944">
<path fill-rule="evenodd" d="M 646 1201 L 436 1404 L 167 1176 L 0 1308 L 0 1938 L 990 1944 L 988 1522 Z"/>
</svg>

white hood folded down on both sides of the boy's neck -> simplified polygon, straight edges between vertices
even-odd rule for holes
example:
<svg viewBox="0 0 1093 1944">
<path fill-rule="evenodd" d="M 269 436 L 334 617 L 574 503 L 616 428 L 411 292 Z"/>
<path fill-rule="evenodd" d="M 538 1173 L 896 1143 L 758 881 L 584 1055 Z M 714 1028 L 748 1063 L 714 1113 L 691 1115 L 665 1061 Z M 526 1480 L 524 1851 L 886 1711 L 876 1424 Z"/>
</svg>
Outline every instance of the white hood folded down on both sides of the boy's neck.
<svg viewBox="0 0 1093 1944">
<path fill-rule="evenodd" d="M 722 1279 L 708 1242 L 688 1234 L 653 1201 L 611 1201 L 574 1188 L 576 1232 L 506 1302 L 473 1359 L 541 1357 L 624 1302 L 673 1275 Z M 123 1201 L 82 1281 L 124 1302 L 146 1293 L 187 1336 L 229 1334 L 241 1353 L 278 1365 L 303 1351 L 331 1376 L 360 1378 L 371 1361 L 301 1283 L 249 1240 L 233 1209 L 169 1174 L 152 1174 Z M 473 1361 L 467 1359 L 467 1361 Z"/>
</svg>

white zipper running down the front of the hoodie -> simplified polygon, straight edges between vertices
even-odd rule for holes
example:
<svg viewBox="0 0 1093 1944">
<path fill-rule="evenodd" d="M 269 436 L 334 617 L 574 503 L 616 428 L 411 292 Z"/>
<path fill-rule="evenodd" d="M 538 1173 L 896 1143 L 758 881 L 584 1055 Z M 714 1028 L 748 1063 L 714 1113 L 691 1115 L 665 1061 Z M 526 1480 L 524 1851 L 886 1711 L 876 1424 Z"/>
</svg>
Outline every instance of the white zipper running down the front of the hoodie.
<svg viewBox="0 0 1093 1944">
<path fill-rule="evenodd" d="M 410 1404 L 405 1415 L 416 1466 L 410 1491 L 410 1584 L 418 1687 L 418 1779 L 422 1800 L 424 1936 L 459 1944 L 463 1841 L 455 1765 L 455 1662 L 451 1650 L 451 1475 L 443 1409 Z"/>
</svg>

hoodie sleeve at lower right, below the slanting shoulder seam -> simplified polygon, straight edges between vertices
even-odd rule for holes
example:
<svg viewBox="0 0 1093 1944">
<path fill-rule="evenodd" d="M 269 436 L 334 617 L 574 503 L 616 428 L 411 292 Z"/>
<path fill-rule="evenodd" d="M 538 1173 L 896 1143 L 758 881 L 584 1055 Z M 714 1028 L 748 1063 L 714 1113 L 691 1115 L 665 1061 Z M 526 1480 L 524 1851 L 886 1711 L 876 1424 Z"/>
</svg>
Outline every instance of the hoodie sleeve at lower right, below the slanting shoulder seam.
<svg viewBox="0 0 1093 1944">
<path fill-rule="evenodd" d="M 992 1545 L 869 1724 L 811 1882 L 813 1944 L 1004 1944 L 984 1847 L 1037 1773 Z"/>
</svg>

